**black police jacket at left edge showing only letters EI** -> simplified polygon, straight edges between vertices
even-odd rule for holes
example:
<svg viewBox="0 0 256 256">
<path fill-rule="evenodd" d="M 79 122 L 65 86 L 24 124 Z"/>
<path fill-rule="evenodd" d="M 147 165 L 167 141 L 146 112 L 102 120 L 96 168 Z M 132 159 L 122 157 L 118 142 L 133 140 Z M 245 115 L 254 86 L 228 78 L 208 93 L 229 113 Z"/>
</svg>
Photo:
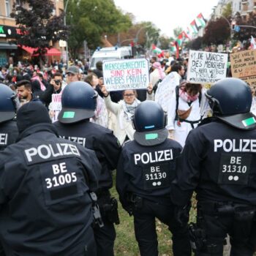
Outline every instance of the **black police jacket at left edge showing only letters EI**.
<svg viewBox="0 0 256 256">
<path fill-rule="evenodd" d="M 16 121 L 10 120 L 0 123 L 0 151 L 4 150 L 8 145 L 15 143 L 17 137 L 18 128 Z"/>
</svg>

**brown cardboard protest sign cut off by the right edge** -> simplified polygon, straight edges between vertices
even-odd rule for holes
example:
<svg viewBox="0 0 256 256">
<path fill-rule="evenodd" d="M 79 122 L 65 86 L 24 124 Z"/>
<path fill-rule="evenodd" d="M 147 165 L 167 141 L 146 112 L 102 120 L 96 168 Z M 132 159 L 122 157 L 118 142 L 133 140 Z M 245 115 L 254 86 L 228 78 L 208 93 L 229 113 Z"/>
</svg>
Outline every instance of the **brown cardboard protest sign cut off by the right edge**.
<svg viewBox="0 0 256 256">
<path fill-rule="evenodd" d="M 233 78 L 240 78 L 256 86 L 256 50 L 243 50 L 230 54 Z"/>
</svg>

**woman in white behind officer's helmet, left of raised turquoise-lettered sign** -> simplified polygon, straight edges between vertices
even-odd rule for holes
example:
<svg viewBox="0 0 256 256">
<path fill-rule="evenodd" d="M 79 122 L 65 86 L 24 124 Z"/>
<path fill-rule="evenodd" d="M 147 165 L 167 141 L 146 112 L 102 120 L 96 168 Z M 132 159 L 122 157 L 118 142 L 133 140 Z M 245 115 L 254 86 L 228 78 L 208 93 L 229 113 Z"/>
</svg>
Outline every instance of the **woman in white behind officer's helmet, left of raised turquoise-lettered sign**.
<svg viewBox="0 0 256 256">
<path fill-rule="evenodd" d="M 96 90 L 96 86 L 99 84 L 99 78 L 94 73 L 91 73 L 86 76 L 85 82 Z M 90 121 L 102 125 L 102 127 L 108 128 L 108 110 L 105 106 L 104 99 L 98 95 L 97 97 L 97 107 L 94 111 L 95 115 L 91 118 Z"/>
</svg>

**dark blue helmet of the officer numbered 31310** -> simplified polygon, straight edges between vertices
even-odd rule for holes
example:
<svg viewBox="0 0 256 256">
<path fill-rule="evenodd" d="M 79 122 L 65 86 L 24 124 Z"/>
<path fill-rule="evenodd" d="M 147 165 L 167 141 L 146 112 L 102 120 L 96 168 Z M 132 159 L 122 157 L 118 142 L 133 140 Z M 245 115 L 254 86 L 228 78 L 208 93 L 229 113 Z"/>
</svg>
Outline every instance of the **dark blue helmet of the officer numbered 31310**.
<svg viewBox="0 0 256 256">
<path fill-rule="evenodd" d="M 255 117 L 250 113 L 252 93 L 238 78 L 224 78 L 206 91 L 214 116 L 239 129 L 255 129 Z"/>
</svg>

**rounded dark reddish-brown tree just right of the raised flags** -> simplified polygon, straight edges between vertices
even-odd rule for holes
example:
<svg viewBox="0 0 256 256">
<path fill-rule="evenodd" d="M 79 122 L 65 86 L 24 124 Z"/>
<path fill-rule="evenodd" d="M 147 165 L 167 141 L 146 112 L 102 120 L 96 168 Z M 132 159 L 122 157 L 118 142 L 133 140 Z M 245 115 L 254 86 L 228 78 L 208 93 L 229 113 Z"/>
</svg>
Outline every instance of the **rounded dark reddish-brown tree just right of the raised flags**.
<svg viewBox="0 0 256 256">
<path fill-rule="evenodd" d="M 203 34 L 203 43 L 210 45 L 223 45 L 230 39 L 230 26 L 224 18 L 210 20 Z"/>
</svg>

